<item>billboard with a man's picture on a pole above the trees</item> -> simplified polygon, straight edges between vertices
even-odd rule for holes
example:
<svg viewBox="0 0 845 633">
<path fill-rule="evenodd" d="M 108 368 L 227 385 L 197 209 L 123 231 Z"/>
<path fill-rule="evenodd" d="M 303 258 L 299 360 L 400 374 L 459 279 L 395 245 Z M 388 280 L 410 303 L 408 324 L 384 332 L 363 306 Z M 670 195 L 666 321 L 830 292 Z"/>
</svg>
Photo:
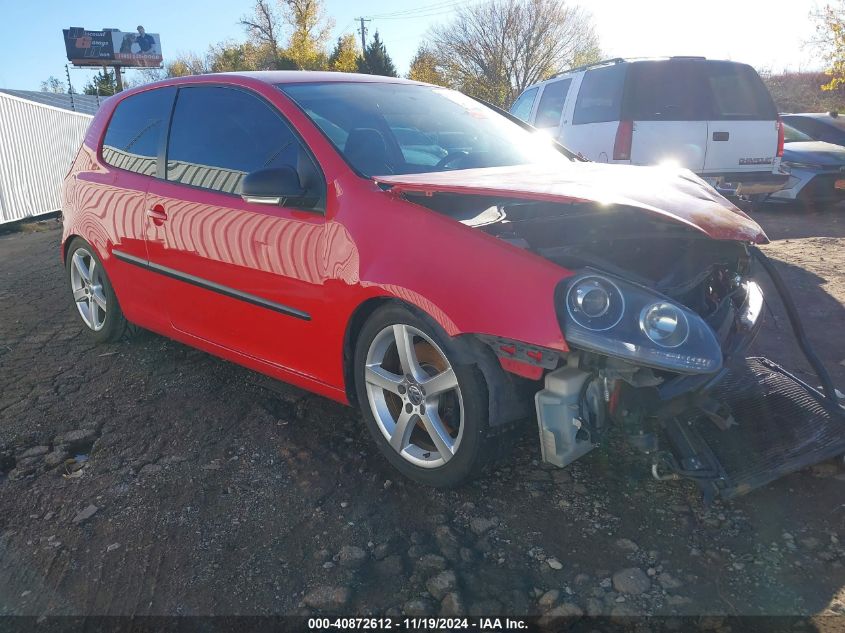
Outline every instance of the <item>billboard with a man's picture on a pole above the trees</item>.
<svg viewBox="0 0 845 633">
<path fill-rule="evenodd" d="M 81 27 L 62 32 L 68 61 L 74 66 L 161 66 L 161 38 L 158 33 L 147 33 L 143 26 L 131 32 Z"/>
</svg>

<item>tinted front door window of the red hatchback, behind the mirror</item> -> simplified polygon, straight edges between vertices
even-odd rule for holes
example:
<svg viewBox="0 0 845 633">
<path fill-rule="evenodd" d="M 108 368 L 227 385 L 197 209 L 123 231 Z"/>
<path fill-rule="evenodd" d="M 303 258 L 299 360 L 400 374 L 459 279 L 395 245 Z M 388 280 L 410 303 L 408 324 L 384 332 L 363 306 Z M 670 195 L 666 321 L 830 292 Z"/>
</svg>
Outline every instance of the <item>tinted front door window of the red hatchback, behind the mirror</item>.
<svg viewBox="0 0 845 633">
<path fill-rule="evenodd" d="M 168 180 L 239 194 L 251 171 L 297 169 L 299 158 L 299 140 L 258 97 L 232 88 L 180 88 L 167 146 Z"/>
</svg>

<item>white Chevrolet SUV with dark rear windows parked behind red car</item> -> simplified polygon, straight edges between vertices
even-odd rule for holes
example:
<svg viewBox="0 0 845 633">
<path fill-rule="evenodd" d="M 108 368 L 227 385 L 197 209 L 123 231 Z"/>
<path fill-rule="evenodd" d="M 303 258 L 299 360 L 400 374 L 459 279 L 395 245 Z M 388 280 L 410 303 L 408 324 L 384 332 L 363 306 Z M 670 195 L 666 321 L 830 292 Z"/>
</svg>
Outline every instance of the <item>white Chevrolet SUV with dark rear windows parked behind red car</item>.
<svg viewBox="0 0 845 633">
<path fill-rule="evenodd" d="M 737 195 L 787 179 L 783 126 L 747 64 L 613 59 L 530 86 L 510 111 L 593 161 L 679 165 Z"/>
</svg>

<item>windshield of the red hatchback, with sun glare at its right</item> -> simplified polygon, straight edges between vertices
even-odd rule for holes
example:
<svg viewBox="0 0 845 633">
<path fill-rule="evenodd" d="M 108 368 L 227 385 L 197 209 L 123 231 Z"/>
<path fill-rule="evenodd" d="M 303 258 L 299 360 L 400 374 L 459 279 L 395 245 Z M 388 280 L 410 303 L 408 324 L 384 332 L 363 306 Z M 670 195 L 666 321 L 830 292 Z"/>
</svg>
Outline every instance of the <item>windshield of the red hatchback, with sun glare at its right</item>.
<svg viewBox="0 0 845 633">
<path fill-rule="evenodd" d="M 365 176 L 569 162 L 547 136 L 454 90 L 351 82 L 279 88 Z"/>
</svg>

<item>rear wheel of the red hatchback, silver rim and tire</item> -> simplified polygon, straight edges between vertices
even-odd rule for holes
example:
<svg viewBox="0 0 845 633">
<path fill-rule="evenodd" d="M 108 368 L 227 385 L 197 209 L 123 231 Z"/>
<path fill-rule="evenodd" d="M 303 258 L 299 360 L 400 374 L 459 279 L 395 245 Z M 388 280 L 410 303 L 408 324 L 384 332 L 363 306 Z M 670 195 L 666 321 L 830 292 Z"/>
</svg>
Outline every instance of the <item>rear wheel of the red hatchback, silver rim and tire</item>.
<svg viewBox="0 0 845 633">
<path fill-rule="evenodd" d="M 134 331 L 123 316 L 111 281 L 93 246 L 82 238 L 73 238 L 68 245 L 65 270 L 76 311 L 95 341 L 117 341 Z"/>
</svg>

